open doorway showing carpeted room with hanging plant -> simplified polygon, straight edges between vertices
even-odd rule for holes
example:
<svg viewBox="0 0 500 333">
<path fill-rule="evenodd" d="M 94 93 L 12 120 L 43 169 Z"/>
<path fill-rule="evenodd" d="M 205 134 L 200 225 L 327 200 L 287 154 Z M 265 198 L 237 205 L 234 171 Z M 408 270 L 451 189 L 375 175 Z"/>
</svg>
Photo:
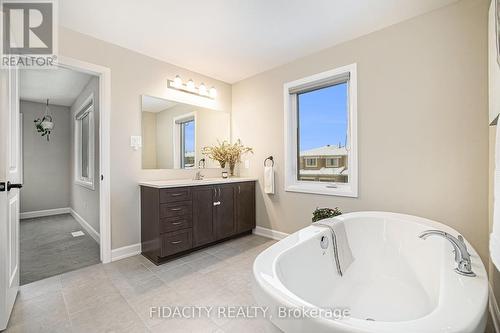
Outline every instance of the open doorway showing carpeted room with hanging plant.
<svg viewBox="0 0 500 333">
<path fill-rule="evenodd" d="M 99 78 L 25 69 L 19 95 L 22 285 L 100 262 Z"/>
</svg>

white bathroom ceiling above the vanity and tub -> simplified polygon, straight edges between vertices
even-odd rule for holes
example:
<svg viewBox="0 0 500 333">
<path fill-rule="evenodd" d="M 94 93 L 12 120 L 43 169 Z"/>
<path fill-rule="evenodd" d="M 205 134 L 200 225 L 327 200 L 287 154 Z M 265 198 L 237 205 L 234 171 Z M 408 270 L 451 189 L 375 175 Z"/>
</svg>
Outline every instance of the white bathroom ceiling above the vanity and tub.
<svg viewBox="0 0 500 333">
<path fill-rule="evenodd" d="M 64 0 L 60 23 L 234 83 L 456 0 Z"/>
</svg>

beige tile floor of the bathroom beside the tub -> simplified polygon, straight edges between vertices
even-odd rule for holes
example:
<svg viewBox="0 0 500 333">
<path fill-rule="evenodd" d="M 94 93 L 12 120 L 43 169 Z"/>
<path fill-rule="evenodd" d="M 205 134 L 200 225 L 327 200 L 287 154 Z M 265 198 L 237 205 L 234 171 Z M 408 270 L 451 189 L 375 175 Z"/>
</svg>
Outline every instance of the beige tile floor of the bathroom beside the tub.
<svg viewBox="0 0 500 333">
<path fill-rule="evenodd" d="M 7 332 L 278 332 L 263 318 L 149 316 L 151 306 L 255 305 L 252 264 L 273 243 L 250 235 L 161 266 L 139 255 L 24 285 Z"/>
</svg>

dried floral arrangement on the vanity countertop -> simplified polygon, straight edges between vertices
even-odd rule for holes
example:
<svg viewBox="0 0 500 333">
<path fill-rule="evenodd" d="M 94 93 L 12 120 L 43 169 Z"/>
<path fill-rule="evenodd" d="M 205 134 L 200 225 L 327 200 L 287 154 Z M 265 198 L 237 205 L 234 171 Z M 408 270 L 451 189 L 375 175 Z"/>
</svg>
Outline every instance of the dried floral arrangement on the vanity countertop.
<svg viewBox="0 0 500 333">
<path fill-rule="evenodd" d="M 241 140 L 238 139 L 235 143 L 230 144 L 226 140 L 217 141 L 217 145 L 203 147 L 203 154 L 211 160 L 219 162 L 221 168 L 225 168 L 229 164 L 231 176 L 234 176 L 234 168 L 236 164 L 241 162 L 241 156 L 246 153 L 253 153 L 251 147 L 245 147 Z"/>
</svg>

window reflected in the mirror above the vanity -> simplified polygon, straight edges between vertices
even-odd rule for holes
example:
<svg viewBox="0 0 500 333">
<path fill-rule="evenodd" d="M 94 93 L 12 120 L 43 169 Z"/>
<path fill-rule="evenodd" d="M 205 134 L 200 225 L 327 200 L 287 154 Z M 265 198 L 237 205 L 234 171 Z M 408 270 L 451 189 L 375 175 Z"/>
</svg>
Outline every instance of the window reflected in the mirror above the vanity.
<svg viewBox="0 0 500 333">
<path fill-rule="evenodd" d="M 196 161 L 196 115 L 184 114 L 174 118 L 174 166 L 194 168 Z"/>
</svg>

